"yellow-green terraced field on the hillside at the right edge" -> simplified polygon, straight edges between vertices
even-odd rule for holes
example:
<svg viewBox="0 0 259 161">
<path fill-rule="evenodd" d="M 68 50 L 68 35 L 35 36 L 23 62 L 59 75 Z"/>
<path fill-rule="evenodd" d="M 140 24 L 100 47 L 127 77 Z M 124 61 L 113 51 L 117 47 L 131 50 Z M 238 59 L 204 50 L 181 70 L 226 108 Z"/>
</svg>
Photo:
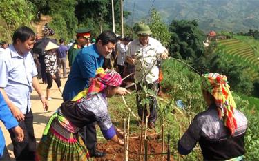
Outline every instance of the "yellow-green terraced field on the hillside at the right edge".
<svg viewBox="0 0 259 161">
<path fill-rule="evenodd" d="M 224 39 L 218 42 L 218 53 L 229 61 L 236 61 L 242 66 L 248 66 L 246 72 L 253 78 L 259 78 L 259 55 L 247 41 L 242 39 Z"/>
</svg>

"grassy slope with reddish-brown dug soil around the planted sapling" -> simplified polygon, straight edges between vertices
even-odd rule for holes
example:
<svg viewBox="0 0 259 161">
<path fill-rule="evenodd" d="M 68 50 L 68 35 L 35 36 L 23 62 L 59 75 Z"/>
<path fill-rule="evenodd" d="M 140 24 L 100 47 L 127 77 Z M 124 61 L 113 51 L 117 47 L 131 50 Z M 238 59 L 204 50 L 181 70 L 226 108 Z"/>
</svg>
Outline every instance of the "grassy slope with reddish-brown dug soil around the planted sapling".
<svg viewBox="0 0 259 161">
<path fill-rule="evenodd" d="M 172 70 L 173 69 L 173 70 Z M 200 146 L 196 146 L 193 151 L 187 155 L 179 155 L 177 152 L 177 142 L 186 131 L 193 117 L 206 109 L 204 106 L 204 100 L 200 91 L 200 76 L 197 73 L 189 70 L 187 66 L 181 64 L 173 59 L 163 61 L 162 70 L 164 73 L 164 80 L 162 81 L 162 88 L 166 97 L 162 97 L 168 102 L 173 100 L 169 106 L 164 101 L 159 99 L 158 118 L 156 127 L 154 129 L 148 129 L 148 153 L 161 153 L 162 149 L 162 120 L 164 118 L 164 134 L 169 133 L 171 135 L 170 149 L 173 152 L 171 158 L 173 160 L 202 160 L 202 154 Z M 137 105 L 135 102 L 135 94 L 126 95 L 125 100 L 128 106 L 135 115 L 137 115 Z M 255 132 L 258 129 L 258 111 L 256 106 L 259 104 L 259 99 L 254 97 L 247 97 L 246 95 L 238 95 L 233 93 L 233 97 L 236 100 L 238 109 L 243 111 L 249 118 L 249 130 L 246 137 L 246 160 L 258 160 L 258 154 L 253 152 L 253 149 L 257 144 L 253 142 L 259 142 L 258 134 Z M 176 100 L 182 100 L 186 105 L 185 108 L 178 108 L 174 103 Z M 128 117 L 128 110 L 125 108 L 121 97 L 112 97 L 108 99 L 109 109 L 111 112 L 111 119 L 116 124 L 123 128 L 124 118 Z M 137 153 L 139 153 L 140 145 L 140 126 L 137 125 L 137 120 L 131 115 L 130 122 L 130 144 L 129 144 L 129 160 L 138 160 Z M 105 158 L 96 158 L 95 161 L 103 160 L 123 160 L 124 150 L 113 142 L 106 142 L 102 137 L 100 131 L 98 131 L 99 141 L 98 149 L 106 151 Z M 255 141 L 249 140 L 253 136 Z M 167 144 L 167 142 L 166 142 Z M 166 146 L 165 146 L 166 147 Z M 148 156 L 148 160 L 161 160 L 162 155 Z M 164 160 L 166 156 L 164 157 Z"/>
</svg>

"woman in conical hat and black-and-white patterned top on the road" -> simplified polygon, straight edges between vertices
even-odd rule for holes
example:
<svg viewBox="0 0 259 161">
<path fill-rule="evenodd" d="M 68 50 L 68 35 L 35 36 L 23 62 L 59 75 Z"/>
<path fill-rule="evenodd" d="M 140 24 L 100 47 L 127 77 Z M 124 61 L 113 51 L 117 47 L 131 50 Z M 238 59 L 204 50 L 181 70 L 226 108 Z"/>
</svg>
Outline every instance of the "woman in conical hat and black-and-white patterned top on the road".
<svg viewBox="0 0 259 161">
<path fill-rule="evenodd" d="M 46 76 L 48 81 L 48 86 L 46 90 L 47 100 L 50 101 L 50 89 L 52 87 L 53 79 L 59 88 L 59 92 L 62 95 L 63 89 L 61 86 L 60 75 L 59 75 L 59 66 L 57 65 L 57 52 L 56 48 L 59 48 L 56 44 L 52 43 L 51 41 L 45 48 L 45 58 L 44 62 L 46 64 Z"/>
</svg>

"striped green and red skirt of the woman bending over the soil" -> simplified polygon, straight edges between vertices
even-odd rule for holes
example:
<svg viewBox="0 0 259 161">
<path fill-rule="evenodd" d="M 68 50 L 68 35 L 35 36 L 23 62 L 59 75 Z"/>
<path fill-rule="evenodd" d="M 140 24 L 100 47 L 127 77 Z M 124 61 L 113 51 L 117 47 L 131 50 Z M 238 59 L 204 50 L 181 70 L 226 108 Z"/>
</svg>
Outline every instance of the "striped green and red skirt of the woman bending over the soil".
<svg viewBox="0 0 259 161">
<path fill-rule="evenodd" d="M 59 123 L 57 124 L 57 122 Z M 50 117 L 44 135 L 39 142 L 35 159 L 40 161 L 88 160 L 90 155 L 83 140 L 78 134 L 70 132 L 75 131 L 75 129 L 61 113 L 54 113 Z"/>
</svg>

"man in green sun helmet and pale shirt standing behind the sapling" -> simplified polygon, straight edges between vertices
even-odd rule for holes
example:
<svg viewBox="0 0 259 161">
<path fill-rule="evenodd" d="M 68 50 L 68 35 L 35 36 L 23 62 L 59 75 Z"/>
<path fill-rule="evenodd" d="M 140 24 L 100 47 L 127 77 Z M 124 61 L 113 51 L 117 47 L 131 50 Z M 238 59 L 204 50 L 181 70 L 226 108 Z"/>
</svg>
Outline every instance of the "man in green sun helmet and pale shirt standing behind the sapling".
<svg viewBox="0 0 259 161">
<path fill-rule="evenodd" d="M 157 93 L 159 69 L 157 66 L 157 57 L 166 59 L 167 53 L 164 46 L 149 37 L 152 32 L 148 25 L 139 23 L 136 30 L 138 38 L 133 40 L 128 46 L 126 54 L 126 61 L 135 65 L 135 83 L 137 84 L 138 91 L 141 91 L 146 84 L 148 88 Z M 142 99 L 137 95 L 137 102 L 142 102 Z M 142 104 L 137 104 L 137 111 L 142 118 L 144 113 L 144 120 L 148 117 L 148 127 L 155 127 L 155 120 L 157 119 L 157 100 L 155 97 L 150 97 L 150 114 L 146 113 Z M 142 121 L 144 121 L 142 120 Z"/>
</svg>

